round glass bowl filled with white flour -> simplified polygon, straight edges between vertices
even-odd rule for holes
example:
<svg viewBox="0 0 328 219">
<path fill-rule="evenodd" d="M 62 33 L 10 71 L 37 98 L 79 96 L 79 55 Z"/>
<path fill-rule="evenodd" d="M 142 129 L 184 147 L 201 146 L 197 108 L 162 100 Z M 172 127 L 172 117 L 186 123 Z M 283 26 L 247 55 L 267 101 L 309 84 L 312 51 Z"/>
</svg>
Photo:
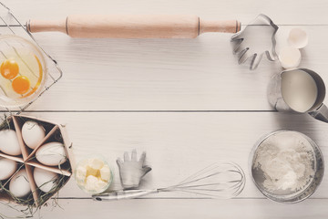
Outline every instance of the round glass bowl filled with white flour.
<svg viewBox="0 0 328 219">
<path fill-rule="evenodd" d="M 250 167 L 256 187 L 278 203 L 305 200 L 323 180 L 322 152 L 294 130 L 277 130 L 261 138 L 251 151 Z"/>
</svg>

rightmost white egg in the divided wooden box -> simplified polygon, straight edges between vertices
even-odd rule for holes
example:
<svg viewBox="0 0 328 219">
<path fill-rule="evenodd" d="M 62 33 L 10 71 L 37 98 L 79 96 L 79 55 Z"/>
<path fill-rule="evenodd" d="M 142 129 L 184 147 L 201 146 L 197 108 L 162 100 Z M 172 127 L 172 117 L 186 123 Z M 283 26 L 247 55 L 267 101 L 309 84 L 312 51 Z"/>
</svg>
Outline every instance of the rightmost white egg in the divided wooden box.
<svg viewBox="0 0 328 219">
<path fill-rule="evenodd" d="M 49 142 L 36 151 L 36 160 L 47 166 L 58 166 L 67 161 L 64 144 Z"/>
</svg>

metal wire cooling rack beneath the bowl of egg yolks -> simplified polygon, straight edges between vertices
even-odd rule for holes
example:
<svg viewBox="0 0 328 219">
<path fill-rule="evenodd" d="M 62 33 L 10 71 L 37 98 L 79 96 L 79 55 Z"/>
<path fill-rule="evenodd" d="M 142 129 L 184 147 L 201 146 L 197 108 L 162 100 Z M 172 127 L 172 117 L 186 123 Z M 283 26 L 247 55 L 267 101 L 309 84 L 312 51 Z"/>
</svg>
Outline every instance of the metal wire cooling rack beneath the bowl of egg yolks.
<svg viewBox="0 0 328 219">
<path fill-rule="evenodd" d="M 26 28 L 19 22 L 19 20 L 12 14 L 11 10 L 0 2 L 0 35 L 1 36 L 20 36 L 25 38 L 29 43 L 36 47 L 45 59 L 47 76 L 45 83 L 40 86 L 40 90 L 33 99 L 28 99 L 24 104 L 17 107 L 0 107 L 4 111 L 0 116 L 0 121 L 5 120 L 8 116 L 13 114 L 20 114 L 26 110 L 36 99 L 42 96 L 46 90 L 50 89 L 56 82 L 62 78 L 63 72 L 56 63 L 56 60 L 51 57 L 46 51 L 38 45 L 34 36 L 29 33 Z"/>
</svg>

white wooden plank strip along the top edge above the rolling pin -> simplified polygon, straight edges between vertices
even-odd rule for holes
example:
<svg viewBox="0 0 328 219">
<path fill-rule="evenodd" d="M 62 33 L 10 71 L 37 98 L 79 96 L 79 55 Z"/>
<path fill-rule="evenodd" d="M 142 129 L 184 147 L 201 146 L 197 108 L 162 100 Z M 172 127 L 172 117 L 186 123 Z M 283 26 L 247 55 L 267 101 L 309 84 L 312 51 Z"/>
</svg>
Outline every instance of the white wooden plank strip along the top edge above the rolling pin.
<svg viewBox="0 0 328 219">
<path fill-rule="evenodd" d="M 56 19 L 68 14 L 195 14 L 213 19 L 238 18 L 244 24 L 254 16 L 263 13 L 271 16 L 278 25 L 327 25 L 325 0 L 298 1 L 216 1 L 216 0 L 176 0 L 156 2 L 150 0 L 5 0 L 22 20 L 29 18 Z M 28 10 L 26 10 L 28 9 Z M 314 16 L 315 15 L 315 16 Z M 204 18 L 205 18 L 204 17 Z"/>
</svg>

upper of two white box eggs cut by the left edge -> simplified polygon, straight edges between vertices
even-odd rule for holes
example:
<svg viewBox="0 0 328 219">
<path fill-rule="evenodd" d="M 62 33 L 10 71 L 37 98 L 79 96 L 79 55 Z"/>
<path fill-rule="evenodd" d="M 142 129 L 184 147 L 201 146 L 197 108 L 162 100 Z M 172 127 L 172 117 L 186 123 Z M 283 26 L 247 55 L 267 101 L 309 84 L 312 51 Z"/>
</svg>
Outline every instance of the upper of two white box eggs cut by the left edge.
<svg viewBox="0 0 328 219">
<path fill-rule="evenodd" d="M 22 154 L 15 130 L 0 130 L 0 151 L 13 156 Z"/>
</svg>

